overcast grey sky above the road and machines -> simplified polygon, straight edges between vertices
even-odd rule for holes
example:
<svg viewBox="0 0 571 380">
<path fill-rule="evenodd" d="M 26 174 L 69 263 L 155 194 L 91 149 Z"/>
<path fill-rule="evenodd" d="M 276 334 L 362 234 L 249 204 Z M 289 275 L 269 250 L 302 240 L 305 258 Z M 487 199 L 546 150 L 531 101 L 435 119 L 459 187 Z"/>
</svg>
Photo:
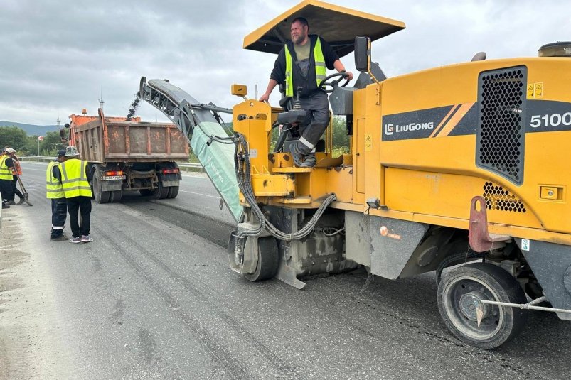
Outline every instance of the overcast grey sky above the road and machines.
<svg viewBox="0 0 571 380">
<path fill-rule="evenodd" d="M 571 40 L 569 1 L 331 0 L 395 18 L 405 30 L 373 43 L 394 77 L 470 60 L 537 56 Z M 87 108 L 126 116 L 140 77 L 168 78 L 199 102 L 232 107 L 233 83 L 264 92 L 276 55 L 243 50 L 243 38 L 297 0 L 0 0 L 0 120 L 62 124 Z M 311 22 L 311 21 L 310 21 Z M 355 71 L 352 55 L 342 58 Z M 277 89 L 270 102 L 277 104 Z M 166 121 L 149 104 L 144 121 Z"/>
</svg>

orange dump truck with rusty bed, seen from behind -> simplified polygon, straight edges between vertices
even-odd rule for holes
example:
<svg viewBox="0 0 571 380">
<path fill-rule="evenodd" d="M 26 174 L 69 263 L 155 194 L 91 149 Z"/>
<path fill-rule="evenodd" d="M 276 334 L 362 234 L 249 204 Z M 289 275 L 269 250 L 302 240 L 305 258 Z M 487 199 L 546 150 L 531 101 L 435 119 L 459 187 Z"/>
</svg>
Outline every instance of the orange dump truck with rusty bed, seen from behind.
<svg viewBox="0 0 571 380">
<path fill-rule="evenodd" d="M 174 124 L 107 117 L 102 109 L 97 116 L 84 110 L 70 119 L 66 140 L 89 163 L 95 202 L 119 202 L 129 190 L 156 199 L 178 195 L 175 160 L 188 161 L 188 143 Z"/>
</svg>

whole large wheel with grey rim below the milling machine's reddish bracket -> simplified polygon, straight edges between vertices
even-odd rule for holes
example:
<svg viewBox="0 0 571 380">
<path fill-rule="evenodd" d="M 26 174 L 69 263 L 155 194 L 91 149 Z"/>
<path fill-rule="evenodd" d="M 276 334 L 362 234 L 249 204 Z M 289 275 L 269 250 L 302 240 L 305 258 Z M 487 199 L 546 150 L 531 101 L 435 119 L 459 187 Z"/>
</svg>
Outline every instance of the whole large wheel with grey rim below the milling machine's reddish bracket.
<svg viewBox="0 0 571 380">
<path fill-rule="evenodd" d="M 438 286 L 438 308 L 448 329 L 459 340 L 493 349 L 516 337 L 528 319 L 518 308 L 482 304 L 478 326 L 477 300 L 526 303 L 525 293 L 510 273 L 493 264 L 476 263 L 449 271 Z"/>
</svg>

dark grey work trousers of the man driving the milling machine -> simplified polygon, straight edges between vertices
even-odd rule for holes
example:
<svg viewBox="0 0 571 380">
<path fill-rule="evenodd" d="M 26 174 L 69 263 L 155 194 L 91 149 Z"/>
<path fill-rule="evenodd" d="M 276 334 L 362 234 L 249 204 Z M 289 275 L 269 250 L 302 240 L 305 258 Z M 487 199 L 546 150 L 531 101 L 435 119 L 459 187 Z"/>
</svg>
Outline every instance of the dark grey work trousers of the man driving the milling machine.
<svg viewBox="0 0 571 380">
<path fill-rule="evenodd" d="M 307 156 L 315 151 L 319 138 L 329 125 L 329 100 L 325 92 L 319 91 L 311 97 L 299 98 L 299 102 L 306 116 L 304 122 L 299 125 L 301 137 L 297 143 L 297 150 Z"/>
</svg>

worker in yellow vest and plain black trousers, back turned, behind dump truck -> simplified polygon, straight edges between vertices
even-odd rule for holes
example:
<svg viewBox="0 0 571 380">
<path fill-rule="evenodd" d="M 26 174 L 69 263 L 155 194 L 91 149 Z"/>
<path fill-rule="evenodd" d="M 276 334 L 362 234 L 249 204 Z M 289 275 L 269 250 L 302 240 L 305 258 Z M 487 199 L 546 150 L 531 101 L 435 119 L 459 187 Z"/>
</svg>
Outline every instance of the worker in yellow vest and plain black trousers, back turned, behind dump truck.
<svg viewBox="0 0 571 380">
<path fill-rule="evenodd" d="M 75 146 L 65 148 L 65 162 L 60 163 L 60 180 L 68 204 L 70 227 L 73 237 L 70 243 L 89 243 L 91 217 L 91 187 L 92 175 L 87 170 L 87 161 L 80 159 L 80 153 Z M 78 214 L 81 214 L 81 224 Z"/>
</svg>

